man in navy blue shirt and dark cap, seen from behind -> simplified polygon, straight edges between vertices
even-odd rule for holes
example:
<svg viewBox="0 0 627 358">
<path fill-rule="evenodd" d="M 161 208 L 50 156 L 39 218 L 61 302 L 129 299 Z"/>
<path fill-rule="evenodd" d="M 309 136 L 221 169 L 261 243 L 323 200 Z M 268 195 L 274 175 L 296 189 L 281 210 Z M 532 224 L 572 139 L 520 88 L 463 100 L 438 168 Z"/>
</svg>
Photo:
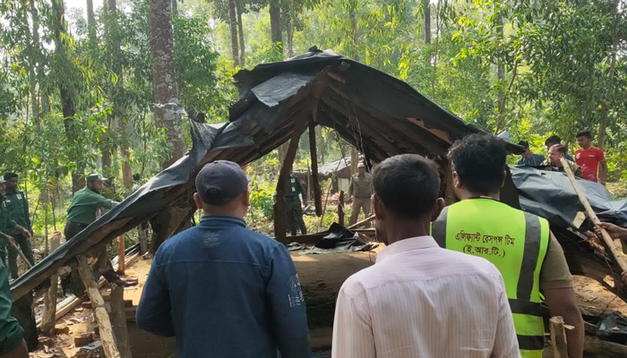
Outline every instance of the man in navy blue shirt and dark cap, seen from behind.
<svg viewBox="0 0 627 358">
<path fill-rule="evenodd" d="M 159 247 L 137 325 L 176 337 L 181 358 L 310 357 L 305 301 L 289 252 L 246 228 L 244 171 L 212 162 L 196 177 L 196 191 L 204 216 Z"/>
</svg>

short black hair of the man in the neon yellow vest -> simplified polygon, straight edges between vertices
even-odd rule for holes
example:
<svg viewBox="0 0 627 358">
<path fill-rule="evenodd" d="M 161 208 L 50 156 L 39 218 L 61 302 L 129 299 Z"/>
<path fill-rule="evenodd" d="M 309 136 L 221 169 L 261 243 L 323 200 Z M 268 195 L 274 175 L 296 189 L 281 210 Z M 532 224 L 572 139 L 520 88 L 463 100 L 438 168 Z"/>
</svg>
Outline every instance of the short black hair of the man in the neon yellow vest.
<svg viewBox="0 0 627 358">
<path fill-rule="evenodd" d="M 477 133 L 453 143 L 449 158 L 468 191 L 487 194 L 501 189 L 507 152 L 494 135 Z"/>
</svg>

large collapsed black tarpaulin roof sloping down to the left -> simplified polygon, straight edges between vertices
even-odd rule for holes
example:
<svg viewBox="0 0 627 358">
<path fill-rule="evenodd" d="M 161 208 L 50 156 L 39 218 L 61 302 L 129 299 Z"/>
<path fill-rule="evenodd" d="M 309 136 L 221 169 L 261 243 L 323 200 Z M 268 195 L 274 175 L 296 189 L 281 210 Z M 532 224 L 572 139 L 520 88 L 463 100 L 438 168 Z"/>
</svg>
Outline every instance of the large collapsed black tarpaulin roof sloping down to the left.
<svg viewBox="0 0 627 358">
<path fill-rule="evenodd" d="M 309 124 L 339 132 L 381 161 L 401 153 L 443 156 L 453 141 L 480 132 L 407 83 L 332 51 L 313 50 L 287 61 L 260 64 L 235 76 L 240 99 L 219 129 L 192 125 L 193 148 L 116 208 L 64 243 L 12 284 L 13 299 L 29 292 L 77 254 L 106 243 L 163 212 L 189 217 L 193 178 L 212 160 L 242 166 L 276 149 Z M 512 152 L 520 147 L 507 143 Z M 169 221 L 168 233 L 178 223 Z"/>
</svg>

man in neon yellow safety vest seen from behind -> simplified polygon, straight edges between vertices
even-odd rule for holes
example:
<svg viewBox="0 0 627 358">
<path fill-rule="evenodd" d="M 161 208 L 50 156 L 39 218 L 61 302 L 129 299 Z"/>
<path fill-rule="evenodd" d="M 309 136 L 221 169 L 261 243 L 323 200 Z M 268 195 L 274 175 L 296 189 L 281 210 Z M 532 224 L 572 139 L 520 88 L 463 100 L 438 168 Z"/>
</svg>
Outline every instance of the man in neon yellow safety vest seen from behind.
<svg viewBox="0 0 627 358">
<path fill-rule="evenodd" d="M 583 356 L 583 319 L 560 244 L 545 218 L 500 200 L 507 153 L 502 141 L 473 134 L 451 147 L 452 181 L 460 202 L 442 210 L 432 234 L 440 246 L 483 257 L 501 271 L 523 358 L 541 358 L 545 326 L 540 303 L 563 316 L 568 356 Z M 543 296 L 544 295 L 544 296 Z"/>
</svg>

